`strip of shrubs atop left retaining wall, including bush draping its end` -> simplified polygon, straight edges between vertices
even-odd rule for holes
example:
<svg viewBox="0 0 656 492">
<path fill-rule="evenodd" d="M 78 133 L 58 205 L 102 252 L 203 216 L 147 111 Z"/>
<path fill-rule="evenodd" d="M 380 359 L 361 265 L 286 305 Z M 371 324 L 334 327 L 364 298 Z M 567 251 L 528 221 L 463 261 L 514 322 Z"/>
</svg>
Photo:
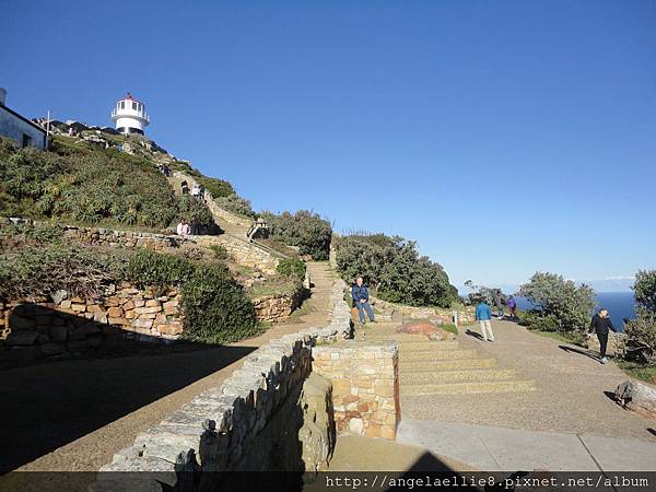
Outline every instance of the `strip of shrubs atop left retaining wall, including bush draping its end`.
<svg viewBox="0 0 656 492">
<path fill-rule="evenodd" d="M 154 294 L 177 288 L 183 337 L 227 343 L 261 330 L 255 309 L 227 266 L 194 249 L 177 255 L 70 243 L 57 226 L 0 227 L 0 298 L 52 295 L 96 297 L 122 280 Z"/>
</svg>

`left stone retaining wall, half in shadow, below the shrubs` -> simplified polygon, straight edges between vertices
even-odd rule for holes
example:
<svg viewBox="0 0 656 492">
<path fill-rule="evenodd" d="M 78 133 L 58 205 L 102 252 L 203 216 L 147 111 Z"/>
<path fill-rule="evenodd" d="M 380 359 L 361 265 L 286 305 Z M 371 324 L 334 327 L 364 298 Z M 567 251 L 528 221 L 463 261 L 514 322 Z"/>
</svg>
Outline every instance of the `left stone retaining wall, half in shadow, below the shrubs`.
<svg viewBox="0 0 656 492">
<path fill-rule="evenodd" d="M 5 355 L 17 363 L 107 350 L 116 336 L 174 340 L 183 331 L 178 292 L 153 296 L 128 284 L 109 285 L 97 298 L 19 300 L 0 303 Z"/>
</svg>

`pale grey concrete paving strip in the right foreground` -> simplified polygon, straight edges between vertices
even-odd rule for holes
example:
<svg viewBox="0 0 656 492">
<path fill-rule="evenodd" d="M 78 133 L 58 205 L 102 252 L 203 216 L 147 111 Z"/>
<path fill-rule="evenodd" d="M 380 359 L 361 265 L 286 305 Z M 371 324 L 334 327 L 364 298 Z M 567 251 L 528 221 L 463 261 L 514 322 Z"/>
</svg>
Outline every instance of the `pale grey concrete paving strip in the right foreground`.
<svg viewBox="0 0 656 492">
<path fill-rule="evenodd" d="M 656 443 L 590 434 L 517 431 L 403 417 L 397 441 L 485 471 L 656 469 Z"/>
</svg>

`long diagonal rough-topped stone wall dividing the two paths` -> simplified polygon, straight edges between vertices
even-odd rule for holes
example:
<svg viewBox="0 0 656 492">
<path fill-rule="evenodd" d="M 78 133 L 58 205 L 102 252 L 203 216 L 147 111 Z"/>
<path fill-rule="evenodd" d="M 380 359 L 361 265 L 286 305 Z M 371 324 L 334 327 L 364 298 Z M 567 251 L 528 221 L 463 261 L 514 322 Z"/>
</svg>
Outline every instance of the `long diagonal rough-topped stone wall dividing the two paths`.
<svg viewBox="0 0 656 492">
<path fill-rule="evenodd" d="M 325 469 L 335 446 L 332 396 L 326 379 L 311 375 L 312 350 L 352 336 L 344 289 L 341 281 L 333 285 L 330 325 L 259 348 L 223 385 L 140 434 L 101 470 L 157 472 L 134 476 L 141 483 L 132 490 L 154 487 L 155 480 L 179 490 L 188 475 L 209 490 L 221 479 L 211 471 Z M 116 480 L 122 479 L 99 475 L 92 490 L 125 485 Z"/>
</svg>

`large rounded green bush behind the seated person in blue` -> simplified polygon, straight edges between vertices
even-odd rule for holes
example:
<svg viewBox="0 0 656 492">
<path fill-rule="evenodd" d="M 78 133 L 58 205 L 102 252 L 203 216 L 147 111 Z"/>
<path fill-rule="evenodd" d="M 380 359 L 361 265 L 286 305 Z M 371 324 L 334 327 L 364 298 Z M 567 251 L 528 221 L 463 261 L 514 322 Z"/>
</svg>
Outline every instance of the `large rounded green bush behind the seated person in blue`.
<svg viewBox="0 0 656 492">
<path fill-rule="evenodd" d="M 337 267 L 347 282 L 363 277 L 384 301 L 449 307 L 458 298 L 442 266 L 399 236 L 342 237 L 337 242 Z"/>
</svg>

